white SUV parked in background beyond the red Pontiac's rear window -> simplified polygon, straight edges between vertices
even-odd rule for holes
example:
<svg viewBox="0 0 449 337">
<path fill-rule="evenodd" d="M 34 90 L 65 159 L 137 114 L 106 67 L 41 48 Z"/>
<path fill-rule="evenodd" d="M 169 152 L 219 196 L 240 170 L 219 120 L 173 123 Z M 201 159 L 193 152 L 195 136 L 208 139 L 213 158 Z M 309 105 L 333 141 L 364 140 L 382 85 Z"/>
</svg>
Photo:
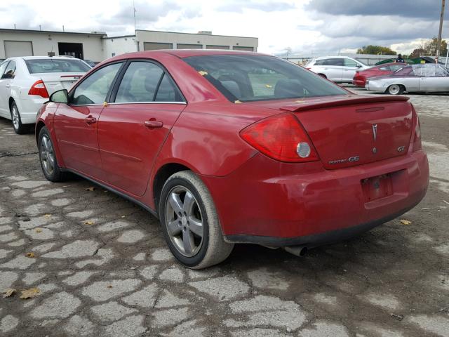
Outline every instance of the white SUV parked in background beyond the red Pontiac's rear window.
<svg viewBox="0 0 449 337">
<path fill-rule="evenodd" d="M 305 67 L 330 81 L 352 83 L 357 70 L 366 70 L 370 66 L 348 56 L 326 56 L 310 60 Z"/>
</svg>

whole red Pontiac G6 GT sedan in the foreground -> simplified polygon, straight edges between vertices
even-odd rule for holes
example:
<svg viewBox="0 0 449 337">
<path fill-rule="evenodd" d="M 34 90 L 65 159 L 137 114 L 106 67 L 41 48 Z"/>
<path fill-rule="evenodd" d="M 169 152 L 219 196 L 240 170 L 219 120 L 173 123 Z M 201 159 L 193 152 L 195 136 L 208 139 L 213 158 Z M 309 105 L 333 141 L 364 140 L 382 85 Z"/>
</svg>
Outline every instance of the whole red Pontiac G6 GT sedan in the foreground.
<svg viewBox="0 0 449 337">
<path fill-rule="evenodd" d="M 97 65 L 39 111 L 44 176 L 76 173 L 158 216 L 191 268 L 246 242 L 304 249 L 413 208 L 429 166 L 413 105 L 291 62 L 146 51 Z"/>
</svg>

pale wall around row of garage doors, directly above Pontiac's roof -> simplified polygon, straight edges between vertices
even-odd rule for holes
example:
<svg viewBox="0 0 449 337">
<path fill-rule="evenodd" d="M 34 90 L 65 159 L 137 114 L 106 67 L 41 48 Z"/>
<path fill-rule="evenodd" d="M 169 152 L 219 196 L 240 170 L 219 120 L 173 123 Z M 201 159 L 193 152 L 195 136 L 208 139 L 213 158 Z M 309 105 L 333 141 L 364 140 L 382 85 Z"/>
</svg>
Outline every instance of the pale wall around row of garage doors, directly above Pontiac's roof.
<svg viewBox="0 0 449 337">
<path fill-rule="evenodd" d="M 139 50 L 143 51 L 144 42 L 172 43 L 176 44 L 201 44 L 203 49 L 206 45 L 253 47 L 257 51 L 258 39 L 255 37 L 228 37 L 224 35 L 208 34 L 185 34 L 175 32 L 155 32 L 149 30 L 136 30 L 136 37 L 139 41 Z"/>
</svg>

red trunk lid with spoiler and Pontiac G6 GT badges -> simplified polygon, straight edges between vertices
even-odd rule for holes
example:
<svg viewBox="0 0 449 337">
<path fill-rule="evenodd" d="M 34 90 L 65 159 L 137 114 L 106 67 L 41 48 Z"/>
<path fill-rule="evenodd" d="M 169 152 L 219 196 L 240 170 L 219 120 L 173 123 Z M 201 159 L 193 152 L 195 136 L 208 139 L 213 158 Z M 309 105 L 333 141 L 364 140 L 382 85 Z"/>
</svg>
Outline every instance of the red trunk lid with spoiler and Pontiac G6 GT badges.
<svg viewBox="0 0 449 337">
<path fill-rule="evenodd" d="M 273 103 L 269 105 L 274 108 Z M 401 156 L 410 145 L 413 110 L 407 97 L 306 98 L 283 103 L 278 109 L 300 120 L 326 169 Z"/>
</svg>

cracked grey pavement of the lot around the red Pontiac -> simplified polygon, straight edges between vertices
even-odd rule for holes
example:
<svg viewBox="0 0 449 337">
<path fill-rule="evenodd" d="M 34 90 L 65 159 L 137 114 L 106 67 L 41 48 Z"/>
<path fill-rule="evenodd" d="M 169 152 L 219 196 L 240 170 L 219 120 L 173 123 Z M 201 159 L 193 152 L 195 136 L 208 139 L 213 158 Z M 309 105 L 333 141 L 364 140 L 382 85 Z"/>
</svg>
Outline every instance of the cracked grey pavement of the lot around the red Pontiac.
<svg viewBox="0 0 449 337">
<path fill-rule="evenodd" d="M 0 119 L 0 291 L 18 291 L 0 297 L 0 336 L 449 336 L 449 98 L 410 97 L 431 162 L 410 225 L 304 258 L 239 245 L 203 271 L 177 264 L 138 206 L 48 183 L 34 135 Z"/>
</svg>

